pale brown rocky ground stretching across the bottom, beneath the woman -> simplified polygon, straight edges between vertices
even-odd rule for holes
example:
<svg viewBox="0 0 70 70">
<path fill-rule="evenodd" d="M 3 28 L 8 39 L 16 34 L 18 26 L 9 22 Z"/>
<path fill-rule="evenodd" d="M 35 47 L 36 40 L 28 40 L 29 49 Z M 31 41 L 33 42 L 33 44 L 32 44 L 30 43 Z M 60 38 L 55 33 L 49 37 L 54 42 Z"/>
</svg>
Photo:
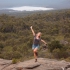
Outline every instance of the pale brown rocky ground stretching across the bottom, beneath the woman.
<svg viewBox="0 0 70 70">
<path fill-rule="evenodd" d="M 70 70 L 70 63 L 64 60 L 38 58 L 12 64 L 11 60 L 0 59 L 0 70 Z"/>
</svg>

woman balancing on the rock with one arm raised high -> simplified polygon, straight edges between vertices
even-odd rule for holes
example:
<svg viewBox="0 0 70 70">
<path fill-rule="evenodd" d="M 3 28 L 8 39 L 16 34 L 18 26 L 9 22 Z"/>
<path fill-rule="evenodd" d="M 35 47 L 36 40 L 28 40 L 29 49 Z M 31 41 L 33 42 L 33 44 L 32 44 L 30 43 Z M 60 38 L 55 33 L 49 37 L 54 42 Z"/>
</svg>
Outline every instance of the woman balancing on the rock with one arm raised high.
<svg viewBox="0 0 70 70">
<path fill-rule="evenodd" d="M 43 42 L 45 45 L 47 44 L 44 40 L 41 39 L 41 32 L 38 32 L 37 34 L 35 34 L 32 26 L 30 27 L 33 36 L 34 36 L 34 41 L 33 41 L 33 45 L 32 45 L 32 49 L 34 52 L 34 57 L 35 57 L 35 62 L 37 62 L 37 57 L 38 57 L 38 48 L 40 46 L 40 41 Z"/>
</svg>

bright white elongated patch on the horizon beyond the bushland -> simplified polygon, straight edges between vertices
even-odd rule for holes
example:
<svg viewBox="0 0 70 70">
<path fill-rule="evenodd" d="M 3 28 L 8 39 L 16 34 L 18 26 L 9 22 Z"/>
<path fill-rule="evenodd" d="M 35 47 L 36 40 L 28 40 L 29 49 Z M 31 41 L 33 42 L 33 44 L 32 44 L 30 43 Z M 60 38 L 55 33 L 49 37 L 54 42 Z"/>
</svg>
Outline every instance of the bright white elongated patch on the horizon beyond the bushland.
<svg viewBox="0 0 70 70">
<path fill-rule="evenodd" d="M 53 8 L 45 8 L 45 7 L 33 7 L 33 6 L 22 6 L 22 7 L 14 7 L 8 8 L 15 11 L 46 11 L 46 10 L 53 10 Z"/>
</svg>

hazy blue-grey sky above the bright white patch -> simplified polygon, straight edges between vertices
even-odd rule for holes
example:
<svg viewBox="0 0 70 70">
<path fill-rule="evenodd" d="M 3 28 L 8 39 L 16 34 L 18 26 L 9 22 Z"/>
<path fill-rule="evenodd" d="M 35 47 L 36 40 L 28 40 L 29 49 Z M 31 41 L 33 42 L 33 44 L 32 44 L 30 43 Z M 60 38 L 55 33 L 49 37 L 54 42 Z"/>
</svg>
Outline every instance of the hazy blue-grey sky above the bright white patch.
<svg viewBox="0 0 70 70">
<path fill-rule="evenodd" d="M 19 6 L 70 8 L 70 0 L 0 0 L 0 8 Z"/>
</svg>

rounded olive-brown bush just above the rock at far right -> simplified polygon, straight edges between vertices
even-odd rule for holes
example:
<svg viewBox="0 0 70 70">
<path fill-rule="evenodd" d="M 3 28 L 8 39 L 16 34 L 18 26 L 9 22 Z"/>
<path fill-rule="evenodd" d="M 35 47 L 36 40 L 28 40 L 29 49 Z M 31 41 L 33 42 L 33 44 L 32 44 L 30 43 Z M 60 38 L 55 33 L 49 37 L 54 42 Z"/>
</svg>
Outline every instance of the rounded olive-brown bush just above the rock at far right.
<svg viewBox="0 0 70 70">
<path fill-rule="evenodd" d="M 61 58 L 68 58 L 70 55 L 69 55 L 69 51 L 67 51 L 66 47 L 63 47 L 62 49 L 54 49 L 52 54 L 55 58 L 57 59 L 61 59 Z"/>
</svg>

